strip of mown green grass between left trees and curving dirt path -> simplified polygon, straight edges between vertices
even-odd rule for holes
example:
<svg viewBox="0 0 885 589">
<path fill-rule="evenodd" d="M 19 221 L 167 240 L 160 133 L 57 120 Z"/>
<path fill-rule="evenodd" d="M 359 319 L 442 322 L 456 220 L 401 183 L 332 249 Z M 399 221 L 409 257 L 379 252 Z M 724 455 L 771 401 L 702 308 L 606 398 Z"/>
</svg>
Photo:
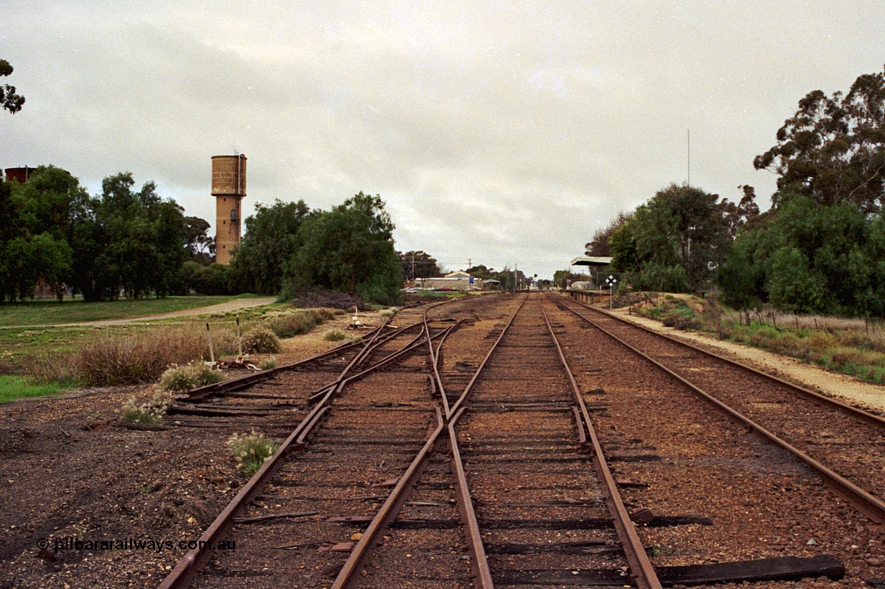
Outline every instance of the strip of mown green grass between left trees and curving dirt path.
<svg viewBox="0 0 885 589">
<path fill-rule="evenodd" d="M 171 313 L 179 310 L 208 307 L 219 302 L 257 295 L 236 296 L 167 296 L 165 299 L 132 301 L 27 301 L 0 305 L 0 327 L 8 325 L 60 325 L 101 321 L 103 319 L 131 319 Z"/>
</svg>

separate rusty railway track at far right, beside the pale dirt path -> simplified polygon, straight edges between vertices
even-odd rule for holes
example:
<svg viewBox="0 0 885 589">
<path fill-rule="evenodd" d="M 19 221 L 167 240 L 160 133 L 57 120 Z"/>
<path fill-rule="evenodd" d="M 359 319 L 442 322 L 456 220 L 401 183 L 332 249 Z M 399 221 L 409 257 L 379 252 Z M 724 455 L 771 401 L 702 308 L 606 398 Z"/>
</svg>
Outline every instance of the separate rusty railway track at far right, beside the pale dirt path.
<svg viewBox="0 0 885 589">
<path fill-rule="evenodd" d="M 885 419 L 604 311 L 553 300 L 796 455 L 855 508 L 885 523 Z"/>
</svg>

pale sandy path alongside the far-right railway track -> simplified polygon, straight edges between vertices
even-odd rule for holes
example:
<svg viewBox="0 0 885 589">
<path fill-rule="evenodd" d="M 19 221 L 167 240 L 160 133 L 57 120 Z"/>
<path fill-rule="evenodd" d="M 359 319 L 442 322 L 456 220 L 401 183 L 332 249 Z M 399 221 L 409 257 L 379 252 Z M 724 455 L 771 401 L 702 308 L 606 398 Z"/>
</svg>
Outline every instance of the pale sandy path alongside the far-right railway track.
<svg viewBox="0 0 885 589">
<path fill-rule="evenodd" d="M 885 387 L 883 386 L 873 385 L 845 374 L 828 371 L 816 364 L 806 364 L 789 356 L 780 356 L 766 352 L 763 349 L 750 348 L 734 341 L 720 341 L 705 333 L 679 331 L 673 327 L 661 325 L 658 321 L 652 319 L 630 315 L 626 307 L 613 310 L 612 312 L 618 317 L 644 325 L 658 333 L 666 333 L 666 335 L 688 340 L 689 342 L 698 342 L 711 348 L 718 348 L 727 352 L 727 356 L 732 356 L 735 360 L 748 363 L 758 370 L 810 386 L 830 396 L 839 397 L 851 403 L 860 402 L 867 407 L 879 409 L 880 411 L 885 410 Z"/>
</svg>

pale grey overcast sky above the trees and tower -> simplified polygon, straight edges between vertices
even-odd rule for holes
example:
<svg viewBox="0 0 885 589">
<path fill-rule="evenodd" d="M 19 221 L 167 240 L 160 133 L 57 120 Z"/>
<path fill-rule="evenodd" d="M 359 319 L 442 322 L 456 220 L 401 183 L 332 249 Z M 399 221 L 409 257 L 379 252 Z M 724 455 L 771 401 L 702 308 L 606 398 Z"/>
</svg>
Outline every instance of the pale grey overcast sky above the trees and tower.
<svg viewBox="0 0 885 589">
<path fill-rule="evenodd" d="M 0 167 L 153 180 L 214 223 L 211 157 L 254 204 L 381 195 L 396 248 L 550 278 L 689 180 L 732 201 L 813 89 L 885 64 L 885 3 L 0 2 Z"/>
</svg>

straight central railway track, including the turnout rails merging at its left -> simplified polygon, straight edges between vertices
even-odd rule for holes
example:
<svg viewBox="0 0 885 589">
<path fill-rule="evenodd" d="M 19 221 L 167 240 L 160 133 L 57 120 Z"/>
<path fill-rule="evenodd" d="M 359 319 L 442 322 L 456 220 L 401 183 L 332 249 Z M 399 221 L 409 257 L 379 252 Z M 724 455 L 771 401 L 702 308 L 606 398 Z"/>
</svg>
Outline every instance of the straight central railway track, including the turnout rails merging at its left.
<svg viewBox="0 0 885 589">
<path fill-rule="evenodd" d="M 537 301 L 520 305 L 464 390 L 445 403 L 447 427 L 440 409 L 424 448 L 448 432 L 449 480 L 438 457 L 416 455 L 413 478 L 373 518 L 334 589 L 466 586 L 465 575 L 452 575 L 464 566 L 445 563 L 465 541 L 476 587 L 660 586 L 604 456 L 587 441 L 588 411 L 557 349 Z M 514 378 L 527 361 L 534 378 Z M 441 380 L 438 389 L 444 400 Z M 588 450 L 602 482 L 594 481 Z M 393 539 L 378 547 L 370 534 L 387 528 Z M 459 528 L 460 541 L 452 532 Z"/>
</svg>

